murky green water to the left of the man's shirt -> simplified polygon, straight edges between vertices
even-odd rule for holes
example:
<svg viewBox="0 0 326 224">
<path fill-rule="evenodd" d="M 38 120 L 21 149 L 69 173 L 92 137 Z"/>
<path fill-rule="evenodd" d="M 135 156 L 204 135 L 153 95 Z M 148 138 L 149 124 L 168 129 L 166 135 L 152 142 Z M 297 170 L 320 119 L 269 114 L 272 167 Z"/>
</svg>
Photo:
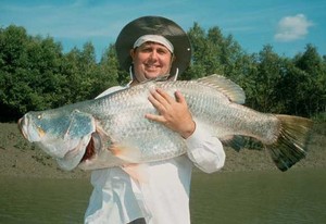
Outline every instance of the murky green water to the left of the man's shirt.
<svg viewBox="0 0 326 224">
<path fill-rule="evenodd" d="M 0 223 L 83 223 L 88 179 L 3 178 Z"/>
</svg>

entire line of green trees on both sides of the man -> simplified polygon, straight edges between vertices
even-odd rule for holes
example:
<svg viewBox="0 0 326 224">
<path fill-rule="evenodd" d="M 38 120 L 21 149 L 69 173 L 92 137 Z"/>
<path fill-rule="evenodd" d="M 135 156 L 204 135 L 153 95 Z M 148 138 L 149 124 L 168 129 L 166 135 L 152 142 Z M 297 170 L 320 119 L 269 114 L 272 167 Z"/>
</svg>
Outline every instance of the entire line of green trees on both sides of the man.
<svg viewBox="0 0 326 224">
<path fill-rule="evenodd" d="M 247 53 L 217 26 L 205 30 L 195 23 L 187 33 L 193 55 L 180 79 L 221 74 L 243 88 L 246 105 L 252 109 L 325 120 L 326 55 L 313 45 L 287 58 L 271 45 Z M 15 25 L 0 28 L 0 122 L 92 99 L 128 78 L 118 66 L 114 43 L 97 62 L 91 42 L 63 52 L 61 42 L 50 36 L 30 36 Z"/>
</svg>

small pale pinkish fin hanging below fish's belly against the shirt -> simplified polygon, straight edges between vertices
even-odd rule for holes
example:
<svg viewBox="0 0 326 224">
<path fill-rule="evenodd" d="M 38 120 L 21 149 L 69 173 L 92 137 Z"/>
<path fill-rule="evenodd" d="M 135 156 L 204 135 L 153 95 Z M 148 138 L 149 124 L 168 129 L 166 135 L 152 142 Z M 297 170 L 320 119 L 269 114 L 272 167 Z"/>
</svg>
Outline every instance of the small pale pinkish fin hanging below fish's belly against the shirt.
<svg viewBox="0 0 326 224">
<path fill-rule="evenodd" d="M 130 163 L 122 166 L 122 170 L 124 170 L 124 172 L 126 172 L 135 182 L 147 184 L 149 179 L 147 167 L 148 165 L 146 164 Z"/>
</svg>

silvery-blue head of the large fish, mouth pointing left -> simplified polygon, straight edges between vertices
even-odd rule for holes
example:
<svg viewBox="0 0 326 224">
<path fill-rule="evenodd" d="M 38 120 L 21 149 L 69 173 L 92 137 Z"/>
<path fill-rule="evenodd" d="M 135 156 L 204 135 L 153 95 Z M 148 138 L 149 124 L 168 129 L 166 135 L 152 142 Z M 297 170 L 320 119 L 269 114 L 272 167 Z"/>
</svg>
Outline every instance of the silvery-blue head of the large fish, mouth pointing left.
<svg viewBox="0 0 326 224">
<path fill-rule="evenodd" d="M 28 141 L 57 159 L 64 170 L 77 166 L 96 130 L 90 114 L 58 109 L 28 112 L 18 121 L 18 127 Z"/>
</svg>

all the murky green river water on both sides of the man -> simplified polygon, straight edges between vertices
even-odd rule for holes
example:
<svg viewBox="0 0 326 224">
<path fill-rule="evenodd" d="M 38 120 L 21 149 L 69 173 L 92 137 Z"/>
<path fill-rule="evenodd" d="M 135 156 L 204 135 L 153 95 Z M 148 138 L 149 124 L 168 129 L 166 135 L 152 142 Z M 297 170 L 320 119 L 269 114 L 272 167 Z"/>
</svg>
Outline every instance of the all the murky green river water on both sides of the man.
<svg viewBox="0 0 326 224">
<path fill-rule="evenodd" d="M 192 224 L 325 223 L 326 170 L 193 173 Z M 88 179 L 0 177 L 0 223 L 83 223 Z"/>
</svg>

